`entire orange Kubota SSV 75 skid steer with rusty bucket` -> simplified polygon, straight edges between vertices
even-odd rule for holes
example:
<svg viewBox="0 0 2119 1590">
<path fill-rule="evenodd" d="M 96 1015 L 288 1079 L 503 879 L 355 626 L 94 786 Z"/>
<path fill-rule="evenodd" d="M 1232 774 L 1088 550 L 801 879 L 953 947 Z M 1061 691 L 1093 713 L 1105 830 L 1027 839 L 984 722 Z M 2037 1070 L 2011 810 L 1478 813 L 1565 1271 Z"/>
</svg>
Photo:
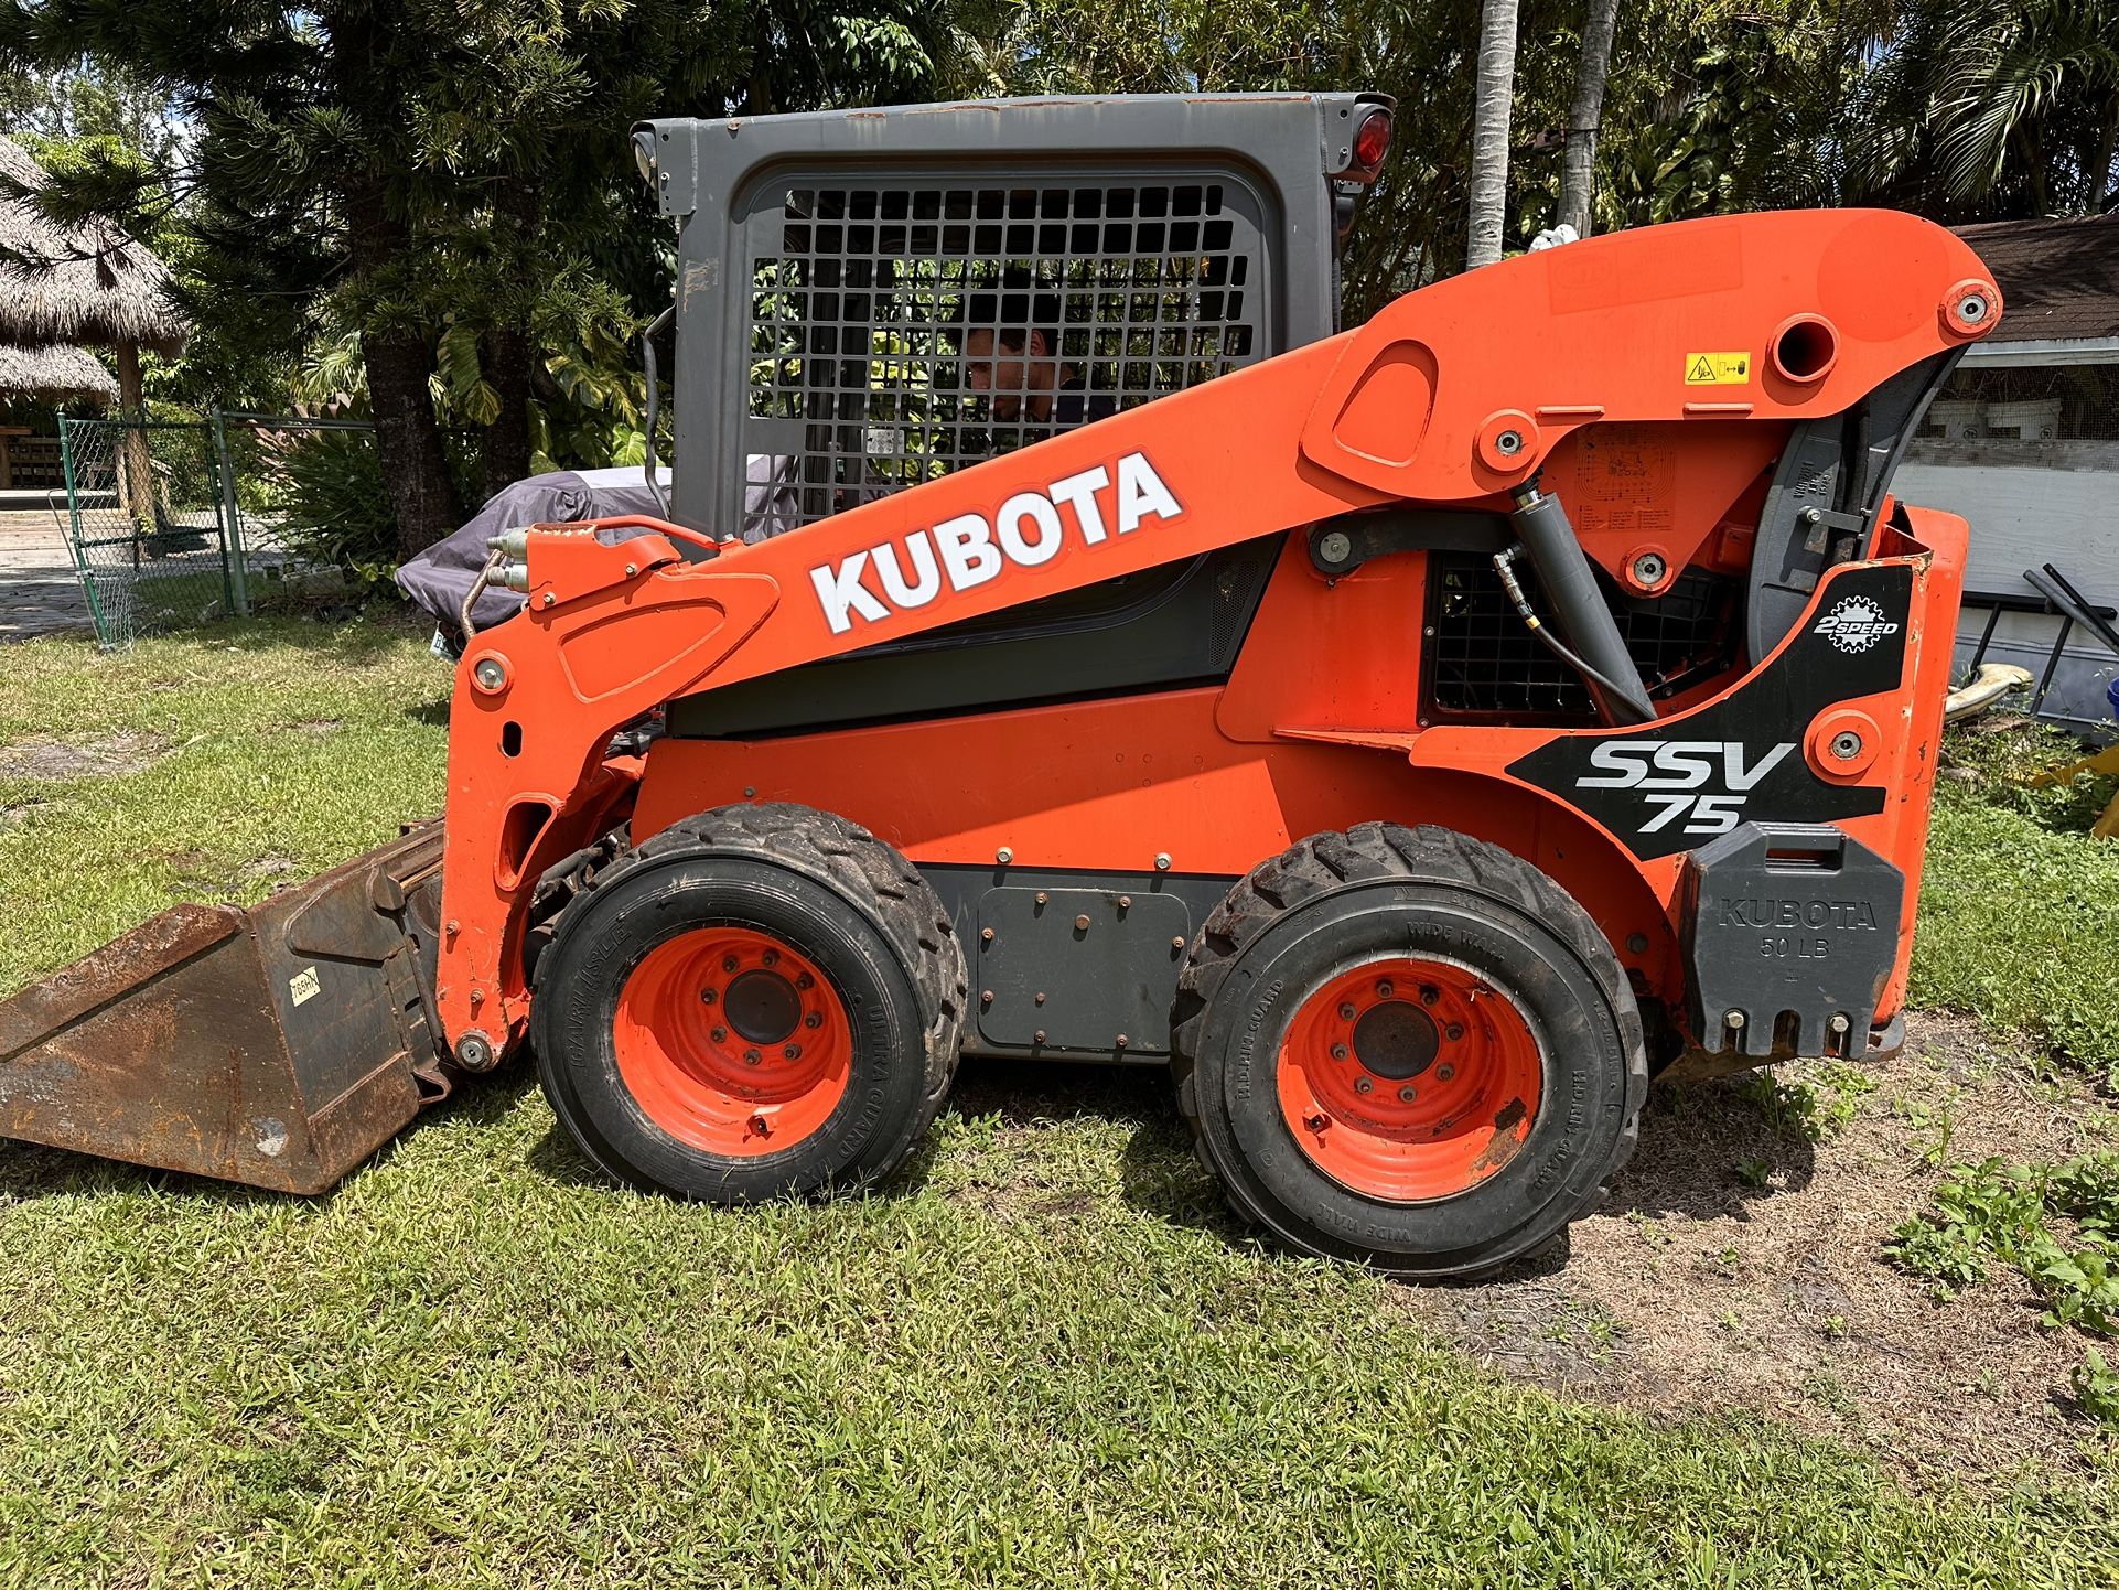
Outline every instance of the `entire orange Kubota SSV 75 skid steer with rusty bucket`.
<svg viewBox="0 0 2119 1590">
<path fill-rule="evenodd" d="M 966 1052 L 1168 1062 L 1246 1217 L 1445 1276 L 1651 1071 L 1892 1049 L 1966 528 L 1886 488 L 1994 282 L 1731 216 L 1341 333 L 1388 129 L 640 127 L 670 522 L 504 536 L 445 825 L 0 1005 L 0 1134 L 314 1191 L 528 1045 L 742 1202 L 890 1172 Z"/>
</svg>

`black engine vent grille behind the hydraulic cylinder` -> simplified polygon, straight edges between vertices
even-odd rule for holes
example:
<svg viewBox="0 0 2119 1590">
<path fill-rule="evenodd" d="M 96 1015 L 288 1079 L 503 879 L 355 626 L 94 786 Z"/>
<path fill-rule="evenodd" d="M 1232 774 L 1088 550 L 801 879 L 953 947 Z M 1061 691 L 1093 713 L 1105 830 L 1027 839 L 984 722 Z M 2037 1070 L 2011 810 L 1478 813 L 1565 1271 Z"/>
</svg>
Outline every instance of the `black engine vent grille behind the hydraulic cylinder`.
<svg viewBox="0 0 2119 1590">
<path fill-rule="evenodd" d="M 1536 575 L 1517 564 L 1517 579 L 1547 623 L 1553 608 Z M 1659 598 L 1621 598 L 1608 583 L 1604 600 L 1634 657 L 1649 695 L 1668 700 L 1714 678 L 1735 661 L 1742 581 L 1689 570 Z M 1428 560 L 1426 704 L 1437 719 L 1507 719 L 1511 723 L 1593 723 L 1596 704 L 1581 674 L 1549 653 L 1509 604 L 1500 575 L 1485 558 L 1432 553 Z"/>
</svg>

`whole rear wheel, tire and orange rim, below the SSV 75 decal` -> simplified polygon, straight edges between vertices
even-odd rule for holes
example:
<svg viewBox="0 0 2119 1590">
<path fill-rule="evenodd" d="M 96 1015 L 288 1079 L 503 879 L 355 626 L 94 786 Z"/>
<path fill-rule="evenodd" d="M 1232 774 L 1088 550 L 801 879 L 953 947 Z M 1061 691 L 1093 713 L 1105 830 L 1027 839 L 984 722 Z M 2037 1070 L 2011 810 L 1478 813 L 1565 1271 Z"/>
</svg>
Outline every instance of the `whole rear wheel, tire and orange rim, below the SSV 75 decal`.
<svg viewBox="0 0 2119 1590">
<path fill-rule="evenodd" d="M 1649 1088 L 1589 914 L 1504 850 L 1386 823 L 1229 893 L 1180 975 L 1174 1049 L 1240 1215 L 1418 1278 L 1485 1274 L 1591 1211 Z"/>
</svg>

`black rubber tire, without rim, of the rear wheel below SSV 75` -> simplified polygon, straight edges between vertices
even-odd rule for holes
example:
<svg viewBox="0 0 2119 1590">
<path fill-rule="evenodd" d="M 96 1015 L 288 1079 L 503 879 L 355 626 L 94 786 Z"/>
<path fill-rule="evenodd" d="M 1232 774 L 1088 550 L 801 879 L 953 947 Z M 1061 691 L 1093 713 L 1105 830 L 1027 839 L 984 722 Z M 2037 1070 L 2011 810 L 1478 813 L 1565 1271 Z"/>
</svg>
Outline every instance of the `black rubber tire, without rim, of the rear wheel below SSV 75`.
<svg viewBox="0 0 2119 1590">
<path fill-rule="evenodd" d="M 1545 1107 L 1485 1181 L 1388 1202 L 1303 1153 L 1274 1068 L 1310 988 L 1422 950 L 1473 967 L 1532 1020 Z M 1589 914 L 1536 867 L 1449 829 L 1360 823 L 1254 867 L 1193 941 L 1174 1022 L 1178 1107 L 1237 1215 L 1301 1253 L 1396 1276 L 1479 1276 L 1551 1242 L 1602 1202 L 1649 1092 L 1640 1011 Z"/>
</svg>

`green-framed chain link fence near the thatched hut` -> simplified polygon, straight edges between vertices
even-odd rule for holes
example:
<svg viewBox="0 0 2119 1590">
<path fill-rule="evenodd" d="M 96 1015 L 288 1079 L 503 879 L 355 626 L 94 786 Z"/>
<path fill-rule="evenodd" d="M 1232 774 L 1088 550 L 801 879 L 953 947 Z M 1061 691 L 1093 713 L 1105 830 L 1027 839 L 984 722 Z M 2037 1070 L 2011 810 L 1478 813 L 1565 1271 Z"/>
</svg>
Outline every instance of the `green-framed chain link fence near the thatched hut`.
<svg viewBox="0 0 2119 1590">
<path fill-rule="evenodd" d="M 337 587 L 316 477 L 350 454 L 373 466 L 373 447 L 358 420 L 61 418 L 61 528 L 95 638 L 125 647 Z"/>
</svg>

